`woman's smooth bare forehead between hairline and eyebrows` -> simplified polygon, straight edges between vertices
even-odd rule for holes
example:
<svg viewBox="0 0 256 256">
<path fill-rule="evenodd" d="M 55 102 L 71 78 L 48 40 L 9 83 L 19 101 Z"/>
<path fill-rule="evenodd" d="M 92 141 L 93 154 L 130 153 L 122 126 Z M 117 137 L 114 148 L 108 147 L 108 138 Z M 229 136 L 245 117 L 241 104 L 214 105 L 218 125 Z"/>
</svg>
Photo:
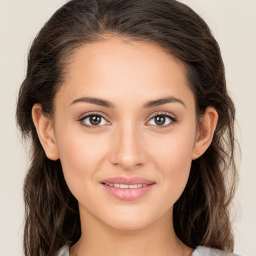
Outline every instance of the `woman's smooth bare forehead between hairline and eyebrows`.
<svg viewBox="0 0 256 256">
<path fill-rule="evenodd" d="M 191 97 L 181 61 L 159 46 L 111 38 L 84 44 L 70 58 L 59 95 L 97 96 L 110 101 Z M 62 92 L 61 92 L 62 91 Z"/>
</svg>

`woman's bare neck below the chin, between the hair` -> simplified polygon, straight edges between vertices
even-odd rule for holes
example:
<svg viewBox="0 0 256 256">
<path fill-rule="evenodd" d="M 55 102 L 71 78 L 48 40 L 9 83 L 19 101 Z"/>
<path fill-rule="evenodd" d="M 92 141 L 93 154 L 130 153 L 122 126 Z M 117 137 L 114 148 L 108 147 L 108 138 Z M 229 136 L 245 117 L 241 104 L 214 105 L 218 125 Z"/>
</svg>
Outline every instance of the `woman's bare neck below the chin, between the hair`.
<svg viewBox="0 0 256 256">
<path fill-rule="evenodd" d="M 188 256 L 193 251 L 175 235 L 172 209 L 150 226 L 136 230 L 115 229 L 81 213 L 81 237 L 71 247 L 70 256 Z"/>
</svg>

